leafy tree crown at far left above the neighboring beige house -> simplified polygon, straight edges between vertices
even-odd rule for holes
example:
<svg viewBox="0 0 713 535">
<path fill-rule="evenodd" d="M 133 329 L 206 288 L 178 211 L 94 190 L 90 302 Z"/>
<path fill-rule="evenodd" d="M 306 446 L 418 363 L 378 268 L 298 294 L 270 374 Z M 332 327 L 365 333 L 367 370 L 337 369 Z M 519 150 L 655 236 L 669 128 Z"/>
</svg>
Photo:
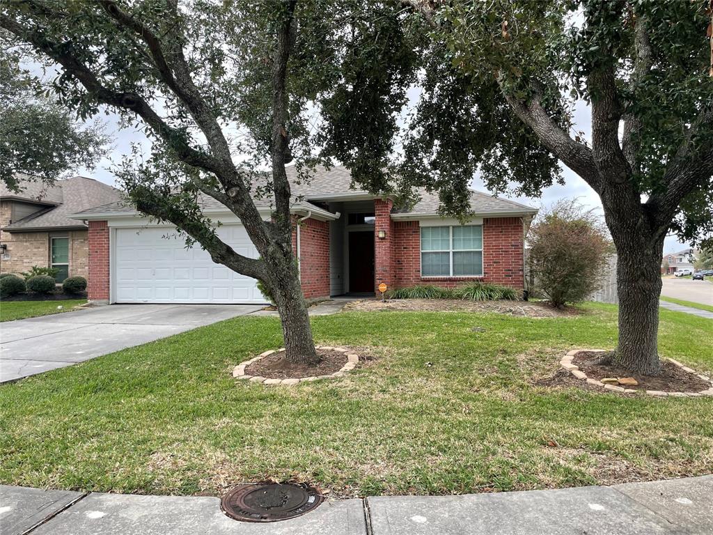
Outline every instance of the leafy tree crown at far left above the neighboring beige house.
<svg viewBox="0 0 713 535">
<path fill-rule="evenodd" d="M 16 173 L 50 185 L 79 166 L 93 168 L 106 153 L 101 123 L 83 126 L 47 93 L 20 67 L 18 54 L 0 59 L 0 180 L 11 190 L 18 188 Z"/>
</svg>

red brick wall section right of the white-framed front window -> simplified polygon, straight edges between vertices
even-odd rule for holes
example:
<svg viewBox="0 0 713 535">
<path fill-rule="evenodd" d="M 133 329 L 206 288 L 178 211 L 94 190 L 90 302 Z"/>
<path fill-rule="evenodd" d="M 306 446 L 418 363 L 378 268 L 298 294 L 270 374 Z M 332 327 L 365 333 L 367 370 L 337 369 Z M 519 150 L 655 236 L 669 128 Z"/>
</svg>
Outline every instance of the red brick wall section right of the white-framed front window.
<svg viewBox="0 0 713 535">
<path fill-rule="evenodd" d="M 483 220 L 483 272 L 488 282 L 522 288 L 523 250 L 522 218 L 486 218 Z"/>
</svg>

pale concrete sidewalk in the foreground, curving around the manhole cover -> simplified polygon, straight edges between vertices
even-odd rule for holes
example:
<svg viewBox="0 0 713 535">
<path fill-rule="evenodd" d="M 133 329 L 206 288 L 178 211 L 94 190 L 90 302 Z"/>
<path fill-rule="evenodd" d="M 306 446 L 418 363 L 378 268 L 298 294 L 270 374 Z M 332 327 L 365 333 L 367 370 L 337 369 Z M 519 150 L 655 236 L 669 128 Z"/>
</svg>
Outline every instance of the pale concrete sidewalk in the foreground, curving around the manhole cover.
<svg viewBox="0 0 713 535">
<path fill-rule="evenodd" d="M 2 535 L 710 535 L 713 476 L 615 486 L 332 500 L 296 519 L 229 519 L 198 496 L 0 486 Z"/>
</svg>

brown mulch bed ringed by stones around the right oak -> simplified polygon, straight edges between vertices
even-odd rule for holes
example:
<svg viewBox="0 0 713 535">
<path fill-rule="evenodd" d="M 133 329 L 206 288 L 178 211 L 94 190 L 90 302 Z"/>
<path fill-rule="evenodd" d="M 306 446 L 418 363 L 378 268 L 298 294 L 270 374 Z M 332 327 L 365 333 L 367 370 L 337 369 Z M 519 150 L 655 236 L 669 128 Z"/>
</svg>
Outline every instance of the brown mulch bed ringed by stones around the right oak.
<svg viewBox="0 0 713 535">
<path fill-rule="evenodd" d="M 639 384 L 627 386 L 627 388 L 631 389 L 660 390 L 662 392 L 699 392 L 711 386 L 709 382 L 704 381 L 696 374 L 686 372 L 667 360 L 662 360 L 661 374 L 656 376 L 632 374 L 623 367 L 602 364 L 602 361 L 606 362 L 611 355 L 611 352 L 581 351 L 575 356 L 572 363 L 578 366 L 591 379 L 634 377 Z"/>
</svg>

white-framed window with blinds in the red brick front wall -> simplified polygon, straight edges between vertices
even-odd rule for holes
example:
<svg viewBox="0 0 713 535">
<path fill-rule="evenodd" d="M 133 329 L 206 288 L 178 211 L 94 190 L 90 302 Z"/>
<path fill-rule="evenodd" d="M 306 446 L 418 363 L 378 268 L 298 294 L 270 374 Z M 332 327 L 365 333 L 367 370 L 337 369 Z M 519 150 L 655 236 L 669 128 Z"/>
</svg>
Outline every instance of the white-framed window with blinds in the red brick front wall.
<svg viewBox="0 0 713 535">
<path fill-rule="evenodd" d="M 483 225 L 421 227 L 421 277 L 483 275 Z"/>
</svg>

